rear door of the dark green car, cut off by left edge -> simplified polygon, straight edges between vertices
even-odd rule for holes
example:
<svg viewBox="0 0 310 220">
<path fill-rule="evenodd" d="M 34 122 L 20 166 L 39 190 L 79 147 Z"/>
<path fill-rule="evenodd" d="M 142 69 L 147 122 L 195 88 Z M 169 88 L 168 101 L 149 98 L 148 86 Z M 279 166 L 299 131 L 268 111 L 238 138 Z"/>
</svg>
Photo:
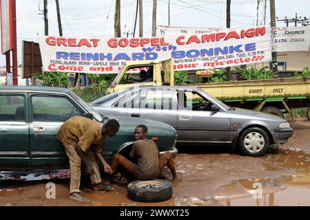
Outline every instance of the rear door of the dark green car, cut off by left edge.
<svg viewBox="0 0 310 220">
<path fill-rule="evenodd" d="M 0 93 L 0 166 L 30 165 L 26 94 Z"/>
</svg>

